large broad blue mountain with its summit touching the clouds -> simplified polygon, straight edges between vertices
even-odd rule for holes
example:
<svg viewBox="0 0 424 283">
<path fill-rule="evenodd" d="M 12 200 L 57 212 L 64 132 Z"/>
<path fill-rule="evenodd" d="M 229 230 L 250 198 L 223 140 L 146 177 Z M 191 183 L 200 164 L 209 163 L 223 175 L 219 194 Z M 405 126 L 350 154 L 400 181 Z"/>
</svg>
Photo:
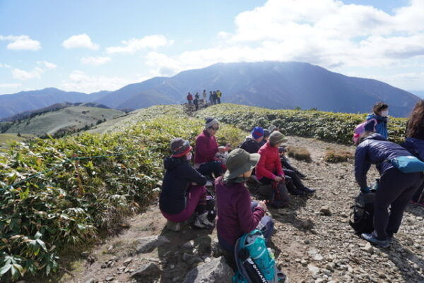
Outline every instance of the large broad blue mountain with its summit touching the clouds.
<svg viewBox="0 0 424 283">
<path fill-rule="evenodd" d="M 222 100 L 271 109 L 317 108 L 323 111 L 370 112 L 377 101 L 387 102 L 390 114 L 407 116 L 419 98 L 387 83 L 352 78 L 319 66 L 298 62 L 215 64 L 153 78 L 111 92 L 100 100 L 109 107 L 141 108 L 185 101 L 187 92 L 221 90 Z M 131 95 L 130 92 L 133 92 Z"/>
</svg>

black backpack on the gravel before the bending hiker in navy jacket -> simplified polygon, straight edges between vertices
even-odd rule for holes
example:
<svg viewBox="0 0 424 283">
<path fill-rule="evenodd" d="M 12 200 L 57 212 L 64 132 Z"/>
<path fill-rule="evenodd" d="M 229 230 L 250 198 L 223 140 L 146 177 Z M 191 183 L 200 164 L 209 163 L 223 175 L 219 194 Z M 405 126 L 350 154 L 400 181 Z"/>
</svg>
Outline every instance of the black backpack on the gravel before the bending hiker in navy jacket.
<svg viewBox="0 0 424 283">
<path fill-rule="evenodd" d="M 362 193 L 355 198 L 351 206 L 351 219 L 349 224 L 357 234 L 371 233 L 374 230 L 374 199 L 375 193 Z"/>
</svg>

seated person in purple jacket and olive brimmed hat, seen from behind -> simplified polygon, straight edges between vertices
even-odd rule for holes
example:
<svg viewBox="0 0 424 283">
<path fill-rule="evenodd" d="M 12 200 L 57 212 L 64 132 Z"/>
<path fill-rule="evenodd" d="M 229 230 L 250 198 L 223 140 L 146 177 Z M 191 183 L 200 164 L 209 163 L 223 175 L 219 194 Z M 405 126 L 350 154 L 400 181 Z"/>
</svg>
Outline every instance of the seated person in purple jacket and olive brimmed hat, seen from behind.
<svg viewBox="0 0 424 283">
<path fill-rule="evenodd" d="M 259 157 L 241 148 L 232 150 L 227 158 L 227 171 L 215 181 L 218 241 L 230 254 L 237 239 L 254 229 L 260 229 L 268 242 L 271 239 L 273 221 L 265 215 L 265 201 L 252 202 L 245 186 Z"/>
</svg>

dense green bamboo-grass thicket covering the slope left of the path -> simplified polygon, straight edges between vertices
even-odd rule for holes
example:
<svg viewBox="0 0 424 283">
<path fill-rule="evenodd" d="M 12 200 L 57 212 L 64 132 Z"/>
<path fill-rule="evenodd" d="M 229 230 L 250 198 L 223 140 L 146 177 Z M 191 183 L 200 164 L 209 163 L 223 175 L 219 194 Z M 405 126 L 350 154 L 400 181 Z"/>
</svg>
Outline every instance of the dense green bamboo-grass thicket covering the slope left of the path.
<svg viewBox="0 0 424 283">
<path fill-rule="evenodd" d="M 59 268 L 60 253 L 92 243 L 148 203 L 158 192 L 170 140 L 193 141 L 203 128 L 204 121 L 183 115 L 175 106 L 151 107 L 104 135 L 37 139 L 3 152 L 0 276 L 48 275 Z M 221 129 L 221 144 L 244 136 L 232 126 Z M 35 178 L 7 187 L 30 176 Z"/>
</svg>

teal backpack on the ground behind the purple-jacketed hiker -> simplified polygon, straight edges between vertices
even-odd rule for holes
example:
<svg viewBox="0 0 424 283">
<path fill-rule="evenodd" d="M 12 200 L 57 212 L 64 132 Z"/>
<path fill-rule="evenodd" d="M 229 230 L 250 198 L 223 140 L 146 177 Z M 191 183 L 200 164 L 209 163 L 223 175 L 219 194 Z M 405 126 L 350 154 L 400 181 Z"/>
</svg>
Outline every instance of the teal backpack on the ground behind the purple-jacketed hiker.
<svg viewBox="0 0 424 283">
<path fill-rule="evenodd" d="M 285 275 L 276 267 L 276 260 L 260 230 L 244 234 L 235 243 L 237 272 L 232 283 L 285 282 Z"/>
</svg>

